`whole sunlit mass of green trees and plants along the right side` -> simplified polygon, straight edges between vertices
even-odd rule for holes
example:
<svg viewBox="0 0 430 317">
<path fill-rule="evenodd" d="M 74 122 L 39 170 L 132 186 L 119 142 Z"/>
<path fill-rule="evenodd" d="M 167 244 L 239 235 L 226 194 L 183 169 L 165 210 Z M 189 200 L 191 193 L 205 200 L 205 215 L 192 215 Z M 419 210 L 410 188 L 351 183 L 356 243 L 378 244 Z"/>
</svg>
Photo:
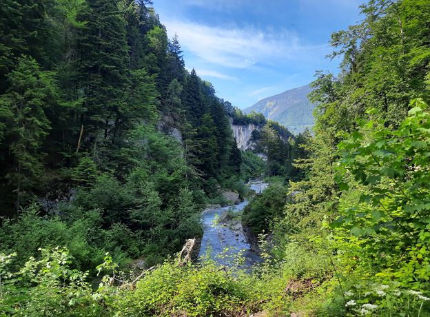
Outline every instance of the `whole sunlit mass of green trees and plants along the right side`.
<svg viewBox="0 0 430 317">
<path fill-rule="evenodd" d="M 369 1 L 362 23 L 332 36 L 342 74 L 318 72 L 312 84 L 315 136 L 300 140 L 302 158 L 294 163 L 304 178 L 290 182 L 291 202 L 272 235 L 275 260 L 288 259 L 297 244 L 302 257 L 320 254 L 329 278 L 305 269 L 320 294 L 303 296 L 296 309 L 428 314 L 429 86 L 422 67 L 429 60 L 417 37 L 427 29 L 416 28 L 428 23 L 428 6 Z"/>
</svg>

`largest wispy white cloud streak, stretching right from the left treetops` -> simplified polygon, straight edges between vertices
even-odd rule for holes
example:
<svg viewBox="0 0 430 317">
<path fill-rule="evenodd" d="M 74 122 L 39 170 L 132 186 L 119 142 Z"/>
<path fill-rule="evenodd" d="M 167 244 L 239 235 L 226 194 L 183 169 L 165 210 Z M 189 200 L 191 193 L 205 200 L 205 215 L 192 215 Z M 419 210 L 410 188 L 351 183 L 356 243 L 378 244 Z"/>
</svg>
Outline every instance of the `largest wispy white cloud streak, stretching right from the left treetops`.
<svg viewBox="0 0 430 317">
<path fill-rule="evenodd" d="M 295 32 L 254 28 L 210 27 L 189 21 L 164 21 L 187 52 L 204 62 L 230 68 L 249 68 L 276 58 L 297 59 L 318 47 L 302 45 Z"/>
</svg>

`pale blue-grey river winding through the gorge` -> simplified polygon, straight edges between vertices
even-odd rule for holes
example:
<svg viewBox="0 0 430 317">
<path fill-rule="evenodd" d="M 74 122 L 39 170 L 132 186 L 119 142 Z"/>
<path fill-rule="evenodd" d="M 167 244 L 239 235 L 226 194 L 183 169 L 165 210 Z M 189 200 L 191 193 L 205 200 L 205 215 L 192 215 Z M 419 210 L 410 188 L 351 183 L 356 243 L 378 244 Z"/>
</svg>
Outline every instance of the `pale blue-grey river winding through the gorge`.
<svg viewBox="0 0 430 317">
<path fill-rule="evenodd" d="M 267 183 L 250 183 L 249 188 L 259 193 L 267 187 Z M 236 224 L 234 229 L 229 225 L 217 223 L 218 218 L 228 209 L 232 212 L 240 212 L 245 208 L 249 201 L 243 201 L 238 205 L 225 206 L 216 209 L 207 209 L 202 214 L 203 238 L 199 258 L 205 256 L 216 261 L 220 265 L 230 267 L 236 263 L 238 255 L 241 255 L 239 267 L 247 269 L 255 263 L 261 261 L 260 256 L 251 250 L 246 242 L 242 225 Z"/>
</svg>

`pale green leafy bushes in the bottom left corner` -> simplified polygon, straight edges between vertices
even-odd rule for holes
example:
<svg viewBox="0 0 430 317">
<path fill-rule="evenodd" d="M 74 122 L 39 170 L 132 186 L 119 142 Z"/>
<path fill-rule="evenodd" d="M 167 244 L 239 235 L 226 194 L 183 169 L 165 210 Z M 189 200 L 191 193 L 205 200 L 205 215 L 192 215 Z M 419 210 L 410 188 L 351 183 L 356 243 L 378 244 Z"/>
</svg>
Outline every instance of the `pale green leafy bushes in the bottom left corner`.
<svg viewBox="0 0 430 317">
<path fill-rule="evenodd" d="M 92 298 L 88 272 L 70 269 L 68 249 L 39 249 L 40 259 L 29 258 L 10 271 L 12 256 L 0 255 L 0 313 L 30 316 L 99 316 L 103 307 Z"/>
</svg>

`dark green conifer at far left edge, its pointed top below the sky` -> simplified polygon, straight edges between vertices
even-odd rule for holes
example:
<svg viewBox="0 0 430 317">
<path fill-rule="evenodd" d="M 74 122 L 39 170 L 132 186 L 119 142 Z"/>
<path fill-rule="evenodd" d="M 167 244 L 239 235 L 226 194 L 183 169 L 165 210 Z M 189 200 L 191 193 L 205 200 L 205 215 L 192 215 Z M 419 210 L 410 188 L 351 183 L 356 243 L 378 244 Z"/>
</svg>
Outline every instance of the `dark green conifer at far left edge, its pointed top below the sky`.
<svg viewBox="0 0 430 317">
<path fill-rule="evenodd" d="M 8 153 L 2 158 L 1 177 L 13 187 L 18 211 L 34 185 L 42 181 L 41 147 L 50 130 L 45 112 L 57 101 L 57 86 L 52 73 L 41 71 L 37 62 L 26 56 L 8 74 L 8 86 L 0 98 L 1 152 Z"/>
</svg>

